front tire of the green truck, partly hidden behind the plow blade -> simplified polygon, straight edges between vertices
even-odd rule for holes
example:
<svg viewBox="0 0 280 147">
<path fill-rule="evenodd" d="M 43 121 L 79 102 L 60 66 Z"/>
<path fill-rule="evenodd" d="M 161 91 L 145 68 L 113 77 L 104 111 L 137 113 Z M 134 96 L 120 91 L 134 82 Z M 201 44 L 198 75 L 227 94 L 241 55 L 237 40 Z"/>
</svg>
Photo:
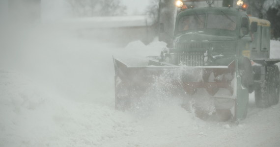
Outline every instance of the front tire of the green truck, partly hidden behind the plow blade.
<svg viewBox="0 0 280 147">
<path fill-rule="evenodd" d="M 238 60 L 239 74 L 241 76 L 242 86 L 248 88 L 249 93 L 254 91 L 253 70 L 250 59 L 241 57 Z"/>
</svg>

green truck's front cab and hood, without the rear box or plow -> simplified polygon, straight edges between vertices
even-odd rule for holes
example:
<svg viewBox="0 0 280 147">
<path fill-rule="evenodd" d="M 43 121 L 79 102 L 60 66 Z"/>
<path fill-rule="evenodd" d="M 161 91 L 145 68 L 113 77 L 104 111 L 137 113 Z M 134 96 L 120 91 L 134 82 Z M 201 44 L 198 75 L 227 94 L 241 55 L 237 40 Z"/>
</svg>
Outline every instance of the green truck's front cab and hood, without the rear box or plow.
<svg viewBox="0 0 280 147">
<path fill-rule="evenodd" d="M 236 56 L 251 58 L 250 20 L 243 11 L 227 7 L 187 9 L 177 16 L 174 32 L 170 51 L 196 56 L 191 63 L 173 56 L 173 64 L 218 66 L 228 65 Z M 204 54 L 207 60 L 200 58 Z"/>
</svg>

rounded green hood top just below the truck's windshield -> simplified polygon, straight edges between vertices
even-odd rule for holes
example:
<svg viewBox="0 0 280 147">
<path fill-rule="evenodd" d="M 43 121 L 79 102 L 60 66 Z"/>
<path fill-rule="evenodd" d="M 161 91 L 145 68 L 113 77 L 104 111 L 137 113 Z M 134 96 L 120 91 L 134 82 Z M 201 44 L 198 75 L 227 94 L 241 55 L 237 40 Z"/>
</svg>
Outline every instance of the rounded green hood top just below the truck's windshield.
<svg viewBox="0 0 280 147">
<path fill-rule="evenodd" d="M 217 36 L 201 33 L 185 33 L 175 37 L 178 41 L 234 41 L 237 38 L 231 36 Z"/>
</svg>

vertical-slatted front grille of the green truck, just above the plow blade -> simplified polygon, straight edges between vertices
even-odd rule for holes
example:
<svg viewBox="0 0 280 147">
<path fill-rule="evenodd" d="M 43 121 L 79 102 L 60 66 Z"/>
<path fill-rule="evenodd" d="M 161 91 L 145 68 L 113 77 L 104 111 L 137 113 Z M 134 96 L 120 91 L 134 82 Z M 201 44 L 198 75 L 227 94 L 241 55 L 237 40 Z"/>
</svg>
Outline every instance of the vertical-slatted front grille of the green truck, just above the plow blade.
<svg viewBox="0 0 280 147">
<path fill-rule="evenodd" d="M 186 66 L 204 66 L 203 52 L 184 52 L 178 54 L 180 65 Z"/>
</svg>

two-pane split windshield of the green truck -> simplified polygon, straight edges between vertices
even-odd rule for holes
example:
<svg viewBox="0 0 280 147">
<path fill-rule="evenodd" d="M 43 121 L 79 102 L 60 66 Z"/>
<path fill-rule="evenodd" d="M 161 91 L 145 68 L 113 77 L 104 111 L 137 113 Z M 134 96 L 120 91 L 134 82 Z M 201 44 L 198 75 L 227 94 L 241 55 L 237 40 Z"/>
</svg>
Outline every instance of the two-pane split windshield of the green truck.
<svg viewBox="0 0 280 147">
<path fill-rule="evenodd" d="M 223 11 L 219 14 L 194 14 L 182 17 L 178 22 L 178 32 L 182 31 L 205 31 L 207 29 L 220 29 L 233 31 L 236 29 L 237 17 L 225 14 Z"/>
</svg>

